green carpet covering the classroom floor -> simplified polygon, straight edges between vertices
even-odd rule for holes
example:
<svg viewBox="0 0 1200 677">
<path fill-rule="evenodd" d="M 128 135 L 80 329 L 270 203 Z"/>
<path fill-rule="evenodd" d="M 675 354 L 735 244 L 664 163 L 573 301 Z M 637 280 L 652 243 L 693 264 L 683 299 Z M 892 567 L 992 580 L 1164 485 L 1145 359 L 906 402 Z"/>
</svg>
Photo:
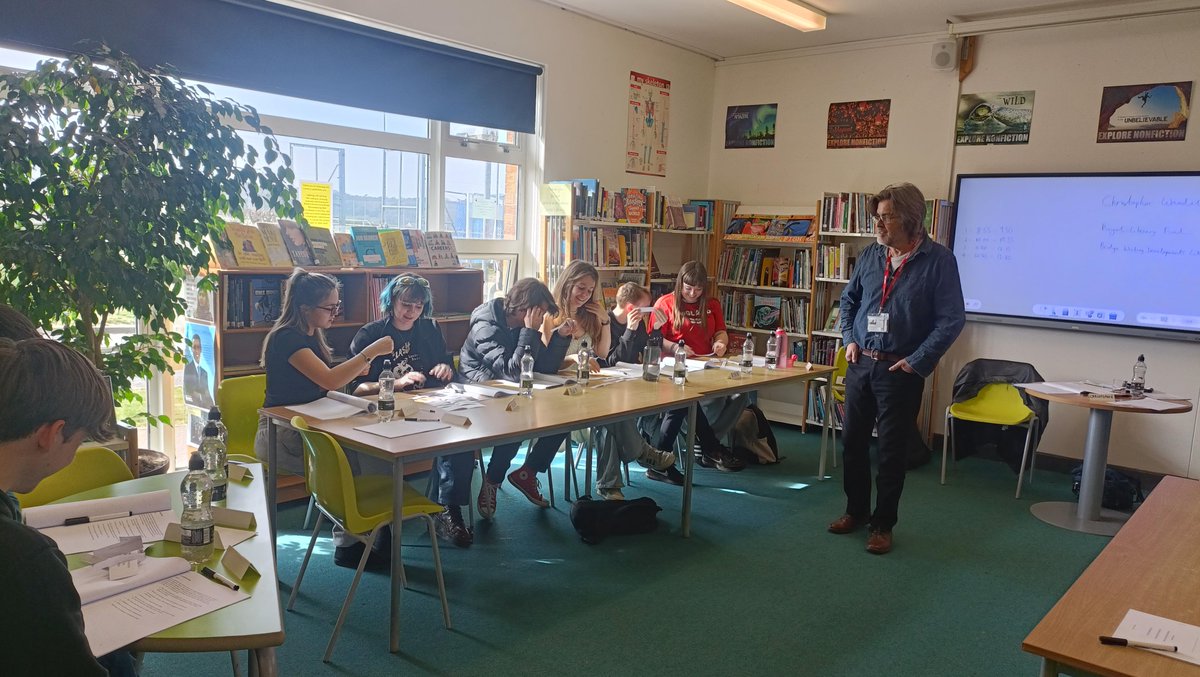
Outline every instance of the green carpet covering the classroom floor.
<svg viewBox="0 0 1200 677">
<path fill-rule="evenodd" d="M 1066 475 L 1039 472 L 1015 501 L 1002 463 L 966 459 L 940 486 L 935 461 L 908 474 L 895 549 L 877 557 L 864 533 L 826 532 L 845 502 L 839 471 L 815 481 L 818 437 L 776 432 L 780 465 L 697 468 L 690 539 L 679 537 L 679 489 L 638 469 L 626 496 L 662 505 L 660 529 L 594 546 L 580 541 L 564 503 L 539 510 L 502 491 L 472 549 L 442 550 L 452 630 L 442 625 L 428 539 L 409 526 L 398 654 L 388 653 L 386 576 L 368 574 L 334 661 L 322 663 L 353 576 L 322 539 L 296 610 L 284 613 L 280 673 L 1036 673 L 1021 640 L 1108 543 L 1030 514 L 1034 502 L 1072 498 Z M 307 543 L 302 519 L 301 504 L 280 514 L 284 598 Z M 143 673 L 229 671 L 228 654 L 150 654 Z"/>
</svg>

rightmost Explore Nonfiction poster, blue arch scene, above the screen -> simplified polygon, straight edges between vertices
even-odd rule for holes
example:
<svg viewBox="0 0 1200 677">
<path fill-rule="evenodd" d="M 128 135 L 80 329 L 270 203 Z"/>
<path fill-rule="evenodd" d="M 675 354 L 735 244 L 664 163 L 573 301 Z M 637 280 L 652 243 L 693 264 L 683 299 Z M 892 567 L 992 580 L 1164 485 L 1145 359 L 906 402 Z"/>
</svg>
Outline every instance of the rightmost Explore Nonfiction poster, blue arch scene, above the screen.
<svg viewBox="0 0 1200 677">
<path fill-rule="evenodd" d="M 1106 86 L 1096 143 L 1183 140 L 1192 83 Z"/>
</svg>

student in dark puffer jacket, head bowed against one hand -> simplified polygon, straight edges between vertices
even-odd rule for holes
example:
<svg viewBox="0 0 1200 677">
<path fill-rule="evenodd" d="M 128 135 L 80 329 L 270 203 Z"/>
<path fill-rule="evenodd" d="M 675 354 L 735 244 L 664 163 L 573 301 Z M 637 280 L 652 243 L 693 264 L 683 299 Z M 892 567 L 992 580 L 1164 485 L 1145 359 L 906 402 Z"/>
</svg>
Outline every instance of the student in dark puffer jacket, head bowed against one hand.
<svg viewBox="0 0 1200 677">
<path fill-rule="evenodd" d="M 556 331 L 548 345 L 542 345 L 538 329 L 547 312 L 558 312 L 550 289 L 533 277 L 518 280 L 503 299 L 484 301 L 470 313 L 470 328 L 458 355 L 458 371 L 472 382 L 521 379 L 521 358 L 529 348 L 534 358 L 534 371 L 554 373 L 566 354 L 575 320 L 568 319 Z M 566 435 L 539 438 L 526 454 L 524 465 L 509 474 L 509 481 L 530 503 L 547 508 L 550 502 L 541 495 L 538 473 L 550 468 L 554 454 L 566 439 Z M 512 459 L 521 448 L 520 442 L 500 444 L 492 449 L 492 457 L 479 489 L 479 516 L 491 520 L 496 516 L 496 490 L 504 481 Z"/>
</svg>

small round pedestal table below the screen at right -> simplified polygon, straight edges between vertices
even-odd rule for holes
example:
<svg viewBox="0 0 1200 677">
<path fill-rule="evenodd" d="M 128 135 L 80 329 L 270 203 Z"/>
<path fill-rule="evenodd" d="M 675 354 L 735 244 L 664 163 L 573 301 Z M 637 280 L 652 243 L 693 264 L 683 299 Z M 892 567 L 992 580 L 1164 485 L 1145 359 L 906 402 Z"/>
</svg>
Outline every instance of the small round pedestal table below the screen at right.
<svg viewBox="0 0 1200 677">
<path fill-rule="evenodd" d="M 1031 397 L 1084 407 L 1087 414 L 1087 437 L 1084 442 L 1084 472 L 1079 480 L 1079 502 L 1052 501 L 1037 503 L 1030 508 L 1043 522 L 1090 534 L 1112 535 L 1129 515 L 1100 508 L 1104 496 L 1104 471 L 1109 462 L 1109 433 L 1112 431 L 1112 412 L 1134 414 L 1182 414 L 1192 411 L 1192 402 L 1163 400 L 1171 405 L 1166 409 L 1134 408 L 1128 400 L 1103 400 L 1074 393 L 1039 393 L 1025 389 Z"/>
</svg>

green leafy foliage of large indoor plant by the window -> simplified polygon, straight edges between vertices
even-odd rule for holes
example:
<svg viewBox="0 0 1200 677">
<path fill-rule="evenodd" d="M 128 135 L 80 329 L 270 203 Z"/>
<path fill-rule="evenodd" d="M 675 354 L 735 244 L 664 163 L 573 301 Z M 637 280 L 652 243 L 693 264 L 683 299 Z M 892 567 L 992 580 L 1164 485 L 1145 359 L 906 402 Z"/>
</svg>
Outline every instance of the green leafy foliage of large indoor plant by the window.
<svg viewBox="0 0 1200 677">
<path fill-rule="evenodd" d="M 235 120 L 266 134 L 262 156 Z M 205 238 L 251 208 L 300 211 L 290 164 L 253 108 L 107 48 L 0 76 L 0 300 L 138 400 L 134 378 L 182 360 L 169 326 Z M 120 311 L 144 332 L 113 345 Z"/>
</svg>

